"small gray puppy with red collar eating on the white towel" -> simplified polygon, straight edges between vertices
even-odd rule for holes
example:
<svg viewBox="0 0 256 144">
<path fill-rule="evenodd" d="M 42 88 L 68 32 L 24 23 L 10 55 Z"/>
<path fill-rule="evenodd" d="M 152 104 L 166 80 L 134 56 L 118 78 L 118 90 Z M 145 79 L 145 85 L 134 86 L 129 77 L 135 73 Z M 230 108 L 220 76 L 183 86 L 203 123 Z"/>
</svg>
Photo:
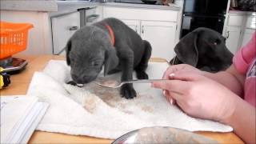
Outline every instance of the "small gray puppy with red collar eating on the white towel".
<svg viewBox="0 0 256 144">
<path fill-rule="evenodd" d="M 73 83 L 94 81 L 104 66 L 104 75 L 122 71 L 121 81 L 147 79 L 145 70 L 151 56 L 150 43 L 116 18 L 106 18 L 92 26 L 83 26 L 66 44 L 66 62 Z M 134 98 L 132 84 L 125 84 L 122 97 Z"/>
</svg>

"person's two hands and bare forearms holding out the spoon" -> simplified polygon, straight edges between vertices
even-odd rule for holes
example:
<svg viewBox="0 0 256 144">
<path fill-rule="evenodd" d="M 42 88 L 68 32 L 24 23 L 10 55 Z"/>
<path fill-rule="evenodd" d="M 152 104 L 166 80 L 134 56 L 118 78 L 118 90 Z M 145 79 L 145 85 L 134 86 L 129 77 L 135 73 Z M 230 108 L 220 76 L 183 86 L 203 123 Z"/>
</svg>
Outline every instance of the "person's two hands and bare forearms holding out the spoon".
<svg viewBox="0 0 256 144">
<path fill-rule="evenodd" d="M 173 80 L 154 82 L 153 86 L 165 90 L 166 98 L 174 99 L 186 114 L 230 125 L 246 143 L 255 143 L 256 111 L 238 97 L 243 95 L 245 76 L 233 65 L 215 74 L 188 65 L 170 66 L 163 78 Z"/>
</svg>

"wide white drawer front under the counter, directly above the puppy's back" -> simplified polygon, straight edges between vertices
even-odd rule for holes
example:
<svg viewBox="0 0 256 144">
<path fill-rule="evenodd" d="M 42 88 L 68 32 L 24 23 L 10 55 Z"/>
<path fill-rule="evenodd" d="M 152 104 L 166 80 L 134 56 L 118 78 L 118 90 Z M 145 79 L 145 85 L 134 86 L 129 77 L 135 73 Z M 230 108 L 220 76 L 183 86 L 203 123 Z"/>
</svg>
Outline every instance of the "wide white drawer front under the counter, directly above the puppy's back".
<svg viewBox="0 0 256 144">
<path fill-rule="evenodd" d="M 174 10 L 152 10 L 106 6 L 103 8 L 103 18 L 109 17 L 120 19 L 176 22 L 178 12 Z"/>
</svg>

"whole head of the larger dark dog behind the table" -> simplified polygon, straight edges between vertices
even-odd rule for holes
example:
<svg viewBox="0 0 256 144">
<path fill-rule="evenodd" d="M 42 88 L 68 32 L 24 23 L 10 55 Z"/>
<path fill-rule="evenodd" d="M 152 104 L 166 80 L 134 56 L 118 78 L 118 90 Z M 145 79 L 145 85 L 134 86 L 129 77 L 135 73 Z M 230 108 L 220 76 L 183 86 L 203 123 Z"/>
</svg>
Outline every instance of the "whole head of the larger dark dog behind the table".
<svg viewBox="0 0 256 144">
<path fill-rule="evenodd" d="M 217 31 L 198 28 L 178 42 L 174 48 L 178 59 L 201 69 L 225 70 L 232 63 L 233 54 L 226 48 L 225 38 Z"/>
</svg>

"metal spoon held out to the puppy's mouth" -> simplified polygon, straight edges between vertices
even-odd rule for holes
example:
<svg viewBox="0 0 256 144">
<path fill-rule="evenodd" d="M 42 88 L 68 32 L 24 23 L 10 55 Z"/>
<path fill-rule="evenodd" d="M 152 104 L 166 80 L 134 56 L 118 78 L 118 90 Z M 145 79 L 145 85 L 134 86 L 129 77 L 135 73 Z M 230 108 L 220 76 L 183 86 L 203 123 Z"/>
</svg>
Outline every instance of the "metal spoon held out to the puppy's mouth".
<svg viewBox="0 0 256 144">
<path fill-rule="evenodd" d="M 156 81 L 166 81 L 168 79 L 135 79 L 135 80 L 130 80 L 130 81 L 123 81 L 123 82 L 118 82 L 118 81 L 113 81 L 113 80 L 101 80 L 100 82 L 95 81 L 94 83 L 98 84 L 99 86 L 104 86 L 108 88 L 118 88 L 126 83 L 146 83 L 146 82 L 156 82 Z"/>
</svg>

